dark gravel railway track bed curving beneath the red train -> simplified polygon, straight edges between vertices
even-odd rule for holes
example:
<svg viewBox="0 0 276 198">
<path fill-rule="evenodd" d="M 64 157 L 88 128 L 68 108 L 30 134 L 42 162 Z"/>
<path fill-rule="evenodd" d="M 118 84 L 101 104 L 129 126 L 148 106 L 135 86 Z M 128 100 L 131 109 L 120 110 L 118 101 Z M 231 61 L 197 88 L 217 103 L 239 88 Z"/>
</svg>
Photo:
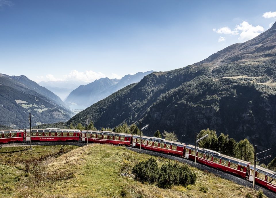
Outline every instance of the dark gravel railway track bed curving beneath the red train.
<svg viewBox="0 0 276 198">
<path fill-rule="evenodd" d="M 91 143 L 89 143 L 91 144 Z M 18 142 L 18 143 L 9 143 L 9 144 L 2 144 L 2 148 L 4 147 L 14 147 L 14 146 L 29 146 L 30 143 L 29 142 Z M 51 146 L 51 145 L 75 145 L 75 146 L 85 146 L 86 142 L 33 142 L 32 145 L 41 145 L 41 146 Z M 131 151 L 135 151 L 137 153 L 140 153 L 140 150 L 136 147 L 133 146 L 126 146 L 127 149 L 131 150 Z M 177 156 L 172 156 L 172 155 L 167 155 L 164 153 L 158 153 L 158 152 L 154 152 L 154 151 L 149 151 L 149 150 L 141 150 L 141 153 L 145 153 L 148 155 L 152 155 L 152 156 L 156 156 L 156 157 L 164 157 L 167 159 L 172 159 L 172 160 L 176 160 L 179 161 L 181 163 L 186 163 L 189 164 L 191 166 L 195 166 L 194 161 L 191 161 L 189 159 L 183 158 L 183 157 L 177 157 Z M 0 150 L 0 154 L 1 154 L 1 150 Z M 240 178 L 237 176 L 234 176 L 232 174 L 223 172 L 221 170 L 197 163 L 197 168 L 199 168 L 200 170 L 204 170 L 204 171 L 208 171 L 210 173 L 215 174 L 216 176 L 219 176 L 221 178 L 225 178 L 227 180 L 233 181 L 239 185 L 245 186 L 245 187 L 252 187 L 252 182 L 250 182 L 249 180 L 246 180 L 244 178 Z M 261 189 L 264 193 L 264 195 L 266 195 L 269 198 L 275 198 L 276 197 L 276 193 L 263 188 L 262 186 L 259 186 L 257 184 L 255 184 L 255 189 L 259 190 Z"/>
</svg>

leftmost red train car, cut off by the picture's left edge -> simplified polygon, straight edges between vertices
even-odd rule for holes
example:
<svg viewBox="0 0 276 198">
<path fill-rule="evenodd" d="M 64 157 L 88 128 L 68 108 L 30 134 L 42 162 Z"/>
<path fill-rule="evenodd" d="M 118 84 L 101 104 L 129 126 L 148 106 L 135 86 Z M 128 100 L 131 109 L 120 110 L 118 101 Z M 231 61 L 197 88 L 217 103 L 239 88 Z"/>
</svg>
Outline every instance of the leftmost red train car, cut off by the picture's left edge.
<svg viewBox="0 0 276 198">
<path fill-rule="evenodd" d="M 24 130 L 0 130 L 0 143 L 22 142 Z"/>
</svg>

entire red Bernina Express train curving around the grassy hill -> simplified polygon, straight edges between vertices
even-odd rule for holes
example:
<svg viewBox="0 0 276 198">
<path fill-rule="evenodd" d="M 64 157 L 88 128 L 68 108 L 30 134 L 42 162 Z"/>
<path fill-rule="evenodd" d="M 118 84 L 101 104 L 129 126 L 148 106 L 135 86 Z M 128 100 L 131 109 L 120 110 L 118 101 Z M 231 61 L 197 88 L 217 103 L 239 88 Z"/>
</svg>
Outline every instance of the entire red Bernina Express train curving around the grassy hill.
<svg viewBox="0 0 276 198">
<path fill-rule="evenodd" d="M 30 130 L 0 130 L 0 143 L 30 141 L 82 141 L 116 144 L 140 147 L 140 136 L 131 134 L 114 133 L 110 131 L 79 131 L 76 129 L 32 129 Z M 253 181 L 253 166 L 250 162 L 229 157 L 209 149 L 197 148 L 185 143 L 168 141 L 162 138 L 141 136 L 141 148 L 185 157 L 210 167 L 229 172 L 242 178 Z M 276 192 L 276 173 L 256 166 L 255 182 Z"/>
</svg>

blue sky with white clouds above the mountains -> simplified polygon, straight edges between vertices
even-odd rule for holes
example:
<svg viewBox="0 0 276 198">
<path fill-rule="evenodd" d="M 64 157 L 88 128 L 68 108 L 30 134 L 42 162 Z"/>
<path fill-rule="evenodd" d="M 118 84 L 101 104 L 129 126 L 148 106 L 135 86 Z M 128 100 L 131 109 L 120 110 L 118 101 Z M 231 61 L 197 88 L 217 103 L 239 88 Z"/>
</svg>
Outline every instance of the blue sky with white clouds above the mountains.
<svg viewBox="0 0 276 198">
<path fill-rule="evenodd" d="M 0 0 L 0 73 L 89 82 L 169 71 L 275 21 L 276 1 Z"/>
</svg>

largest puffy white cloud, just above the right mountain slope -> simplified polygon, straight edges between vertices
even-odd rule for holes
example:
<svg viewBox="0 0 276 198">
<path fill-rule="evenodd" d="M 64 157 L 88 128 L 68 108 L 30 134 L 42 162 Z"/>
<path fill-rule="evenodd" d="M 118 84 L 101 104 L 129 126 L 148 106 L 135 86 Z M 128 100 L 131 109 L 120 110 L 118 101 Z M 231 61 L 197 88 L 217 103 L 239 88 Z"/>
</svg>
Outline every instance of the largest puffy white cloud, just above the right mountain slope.
<svg viewBox="0 0 276 198">
<path fill-rule="evenodd" d="M 248 41 L 262 33 L 264 31 L 264 28 L 259 25 L 253 26 L 248 22 L 244 21 L 240 25 L 237 25 L 235 30 L 241 31 L 239 35 L 240 41 Z"/>
</svg>

